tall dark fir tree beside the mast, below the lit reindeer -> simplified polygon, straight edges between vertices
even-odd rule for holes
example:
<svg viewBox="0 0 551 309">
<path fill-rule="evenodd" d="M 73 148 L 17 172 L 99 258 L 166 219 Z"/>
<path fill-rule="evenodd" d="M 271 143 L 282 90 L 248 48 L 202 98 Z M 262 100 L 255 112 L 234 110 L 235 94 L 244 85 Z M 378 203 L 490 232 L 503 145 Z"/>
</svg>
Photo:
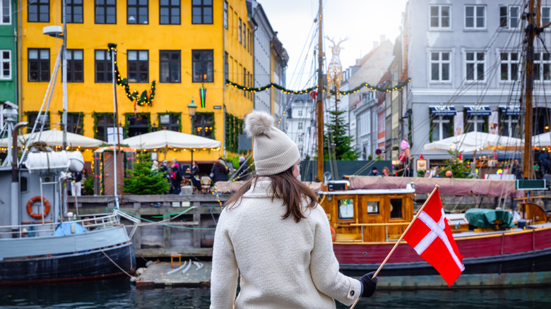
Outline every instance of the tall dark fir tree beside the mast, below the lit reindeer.
<svg viewBox="0 0 551 309">
<path fill-rule="evenodd" d="M 343 114 L 344 111 L 329 111 L 329 121 L 325 125 L 324 135 L 324 159 L 326 160 L 355 160 L 360 156 L 360 150 L 352 145 L 352 137 L 348 135 L 349 124 L 345 123 Z M 331 137 L 331 149 L 335 150 L 335 157 L 328 149 L 329 137 Z"/>
</svg>

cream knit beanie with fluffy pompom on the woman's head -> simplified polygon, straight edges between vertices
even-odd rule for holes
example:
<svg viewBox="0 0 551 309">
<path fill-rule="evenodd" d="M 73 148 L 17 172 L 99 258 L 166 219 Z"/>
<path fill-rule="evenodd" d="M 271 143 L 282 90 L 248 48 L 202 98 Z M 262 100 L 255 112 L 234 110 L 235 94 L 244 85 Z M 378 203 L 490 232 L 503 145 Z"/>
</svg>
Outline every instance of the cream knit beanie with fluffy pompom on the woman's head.
<svg viewBox="0 0 551 309">
<path fill-rule="evenodd" d="M 254 138 L 253 156 L 256 174 L 275 175 L 286 171 L 300 159 L 297 144 L 273 126 L 275 119 L 263 111 L 245 116 L 245 132 Z"/>
</svg>

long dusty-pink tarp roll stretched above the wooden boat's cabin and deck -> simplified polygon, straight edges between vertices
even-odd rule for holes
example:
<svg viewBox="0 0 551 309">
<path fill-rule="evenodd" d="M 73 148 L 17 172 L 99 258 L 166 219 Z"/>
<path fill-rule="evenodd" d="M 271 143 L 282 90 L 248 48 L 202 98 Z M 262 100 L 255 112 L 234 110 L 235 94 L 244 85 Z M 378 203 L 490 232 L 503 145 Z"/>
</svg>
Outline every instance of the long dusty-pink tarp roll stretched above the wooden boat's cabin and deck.
<svg viewBox="0 0 551 309">
<path fill-rule="evenodd" d="M 521 197 L 523 191 L 515 190 L 515 181 L 466 179 L 466 178 L 419 178 L 419 177 L 381 177 L 350 176 L 352 189 L 398 189 L 408 183 L 415 183 L 415 193 L 431 193 L 434 185 L 439 185 L 440 194 L 484 195 L 496 197 Z M 516 196 L 519 195 L 519 196 Z"/>
</svg>

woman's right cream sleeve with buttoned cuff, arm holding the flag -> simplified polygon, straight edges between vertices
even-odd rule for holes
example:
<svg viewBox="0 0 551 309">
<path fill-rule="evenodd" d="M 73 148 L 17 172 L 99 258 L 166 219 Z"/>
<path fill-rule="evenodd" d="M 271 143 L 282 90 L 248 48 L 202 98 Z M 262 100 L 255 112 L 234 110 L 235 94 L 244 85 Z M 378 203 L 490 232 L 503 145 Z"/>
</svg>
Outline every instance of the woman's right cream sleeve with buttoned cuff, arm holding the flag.
<svg viewBox="0 0 551 309">
<path fill-rule="evenodd" d="M 345 305 L 352 305 L 362 293 L 362 284 L 339 272 L 338 260 L 333 253 L 331 229 L 320 205 L 312 210 L 312 229 L 314 249 L 311 253 L 310 272 L 316 289 Z"/>
</svg>

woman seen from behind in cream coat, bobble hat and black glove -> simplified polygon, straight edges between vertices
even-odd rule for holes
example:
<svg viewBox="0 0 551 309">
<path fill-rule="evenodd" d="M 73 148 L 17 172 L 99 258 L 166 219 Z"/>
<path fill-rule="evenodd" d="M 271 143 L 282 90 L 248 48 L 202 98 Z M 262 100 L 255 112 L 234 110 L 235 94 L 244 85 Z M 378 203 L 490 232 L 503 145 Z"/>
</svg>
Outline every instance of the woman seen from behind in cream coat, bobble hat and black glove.
<svg viewBox="0 0 551 309">
<path fill-rule="evenodd" d="M 298 147 L 273 123 L 259 111 L 245 117 L 256 175 L 220 214 L 211 308 L 336 308 L 333 299 L 351 305 L 372 296 L 374 272 L 360 280 L 339 272 L 326 213 L 297 180 Z"/>
</svg>

